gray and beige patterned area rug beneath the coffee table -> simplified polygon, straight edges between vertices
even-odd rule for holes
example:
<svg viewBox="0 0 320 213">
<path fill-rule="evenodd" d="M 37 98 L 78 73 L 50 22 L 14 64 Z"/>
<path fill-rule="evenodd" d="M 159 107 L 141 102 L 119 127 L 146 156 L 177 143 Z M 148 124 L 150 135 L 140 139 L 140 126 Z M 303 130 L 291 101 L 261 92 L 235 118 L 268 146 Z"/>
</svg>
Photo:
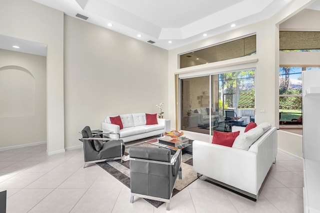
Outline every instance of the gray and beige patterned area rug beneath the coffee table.
<svg viewBox="0 0 320 213">
<path fill-rule="evenodd" d="M 140 143 L 133 146 L 155 147 L 154 145 L 151 145 L 148 143 Z M 129 167 L 130 161 L 128 160 L 129 159 L 128 148 L 129 147 L 125 147 L 125 151 L 124 151 L 124 155 L 125 155 L 124 159 L 126 161 L 122 161 L 121 163 L 120 160 L 115 160 L 115 161 L 100 162 L 96 164 L 100 166 L 102 169 L 104 169 L 106 172 L 108 172 L 110 175 L 112 175 L 114 178 L 119 180 L 127 188 L 130 188 L 130 167 Z M 194 172 L 192 168 L 192 155 L 187 153 L 182 154 L 181 168 L 182 168 L 182 179 L 176 179 L 172 197 L 197 179 L 196 172 Z M 164 203 L 164 202 L 154 201 L 149 199 L 144 199 L 144 200 L 146 200 L 148 203 L 150 203 L 156 208 L 158 208 Z"/>
</svg>

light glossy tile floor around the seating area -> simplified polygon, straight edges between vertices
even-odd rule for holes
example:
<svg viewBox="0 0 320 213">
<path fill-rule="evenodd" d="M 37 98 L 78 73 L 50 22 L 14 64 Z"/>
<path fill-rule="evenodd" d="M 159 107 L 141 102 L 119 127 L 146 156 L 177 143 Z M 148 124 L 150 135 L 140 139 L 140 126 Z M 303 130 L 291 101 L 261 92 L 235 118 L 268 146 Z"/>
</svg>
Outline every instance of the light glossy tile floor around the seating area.
<svg viewBox="0 0 320 213">
<path fill-rule="evenodd" d="M 47 156 L 38 145 L 0 152 L 0 191 L 7 213 L 164 213 L 93 164 L 83 167 L 82 148 Z M 302 161 L 278 153 L 276 164 L 252 202 L 196 180 L 174 196 L 170 213 L 302 213 Z"/>
</svg>

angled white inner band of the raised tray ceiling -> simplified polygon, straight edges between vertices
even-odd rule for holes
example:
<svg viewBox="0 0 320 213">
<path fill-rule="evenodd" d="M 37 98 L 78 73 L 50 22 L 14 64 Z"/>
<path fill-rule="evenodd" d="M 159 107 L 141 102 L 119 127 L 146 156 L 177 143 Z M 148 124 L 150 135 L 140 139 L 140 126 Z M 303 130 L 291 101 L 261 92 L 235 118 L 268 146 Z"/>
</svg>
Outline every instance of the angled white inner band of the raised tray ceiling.
<svg viewBox="0 0 320 213">
<path fill-rule="evenodd" d="M 226 5 L 225 8 L 220 8 L 215 12 L 201 17 L 197 20 L 187 23 L 181 27 L 162 27 L 157 25 L 156 21 L 149 21 L 155 15 L 138 16 L 133 12 L 128 11 L 127 7 L 119 7 L 114 5 L 112 0 L 76 0 L 79 6 L 88 13 L 95 14 L 103 17 L 107 20 L 113 20 L 118 24 L 127 26 L 141 33 L 155 37 L 157 39 L 185 39 L 196 34 L 208 31 L 212 28 L 217 28 L 222 25 L 234 22 L 236 20 L 254 15 L 261 12 L 266 8 L 273 0 L 236 0 L 233 5 Z M 216 2 L 217 1 L 212 1 Z M 123 6 L 123 5 L 122 5 Z M 180 6 L 182 7 L 182 6 Z M 202 7 L 203 8 L 203 7 Z M 200 8 L 198 8 L 200 9 Z M 159 11 L 156 8 L 150 8 L 152 11 Z M 194 10 L 193 13 L 200 13 L 200 11 Z M 162 14 L 162 17 L 166 16 L 166 12 Z M 187 14 L 184 14 L 187 17 Z M 195 15 L 199 17 L 198 15 Z M 172 19 L 172 23 L 176 22 L 176 18 Z M 185 23 L 185 22 L 183 22 Z M 169 23 L 163 23 L 170 25 Z"/>
</svg>

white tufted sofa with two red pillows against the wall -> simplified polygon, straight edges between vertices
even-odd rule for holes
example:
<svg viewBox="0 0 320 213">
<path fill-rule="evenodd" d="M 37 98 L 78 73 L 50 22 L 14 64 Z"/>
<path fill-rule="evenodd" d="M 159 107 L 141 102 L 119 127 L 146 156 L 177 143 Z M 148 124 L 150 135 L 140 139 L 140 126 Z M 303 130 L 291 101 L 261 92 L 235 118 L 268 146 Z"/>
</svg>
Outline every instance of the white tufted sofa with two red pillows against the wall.
<svg viewBox="0 0 320 213">
<path fill-rule="evenodd" d="M 107 116 L 102 123 L 102 131 L 111 131 L 108 137 L 122 139 L 123 142 L 134 141 L 170 131 L 170 120 L 157 118 L 158 124 L 146 125 L 145 113 L 132 113 L 120 115 L 123 129 L 115 124 L 111 124 L 110 117 Z"/>
</svg>

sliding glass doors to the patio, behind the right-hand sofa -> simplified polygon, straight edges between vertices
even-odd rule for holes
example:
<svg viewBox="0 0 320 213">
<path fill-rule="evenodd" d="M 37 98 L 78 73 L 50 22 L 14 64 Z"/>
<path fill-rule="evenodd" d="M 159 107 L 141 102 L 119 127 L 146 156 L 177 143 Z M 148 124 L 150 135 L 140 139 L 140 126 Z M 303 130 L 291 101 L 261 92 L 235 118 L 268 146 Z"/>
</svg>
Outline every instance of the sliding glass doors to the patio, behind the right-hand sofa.
<svg viewBox="0 0 320 213">
<path fill-rule="evenodd" d="M 212 134 L 254 121 L 254 70 L 182 79 L 181 130 Z M 211 89 L 211 91 L 209 91 Z M 209 101 L 211 100 L 211 101 Z M 211 103 L 211 105 L 210 105 Z M 226 113 L 234 112 L 226 121 Z M 238 119 L 238 120 L 236 120 Z"/>
</svg>

